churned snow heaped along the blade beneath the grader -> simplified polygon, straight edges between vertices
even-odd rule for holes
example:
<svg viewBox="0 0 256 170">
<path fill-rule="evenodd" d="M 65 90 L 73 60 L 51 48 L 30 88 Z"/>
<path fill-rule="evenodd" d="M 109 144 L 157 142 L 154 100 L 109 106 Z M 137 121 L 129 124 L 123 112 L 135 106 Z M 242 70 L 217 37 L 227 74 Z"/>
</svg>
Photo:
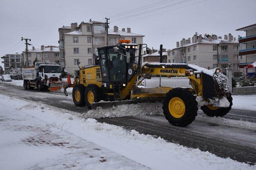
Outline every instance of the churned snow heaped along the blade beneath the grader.
<svg viewBox="0 0 256 170">
<path fill-rule="evenodd" d="M 138 103 L 138 104 L 123 104 L 113 106 L 109 109 L 97 107 L 96 110 L 89 110 L 84 114 L 84 118 L 102 118 L 102 117 L 125 117 L 136 115 L 162 115 L 162 104 L 155 103 Z"/>
</svg>

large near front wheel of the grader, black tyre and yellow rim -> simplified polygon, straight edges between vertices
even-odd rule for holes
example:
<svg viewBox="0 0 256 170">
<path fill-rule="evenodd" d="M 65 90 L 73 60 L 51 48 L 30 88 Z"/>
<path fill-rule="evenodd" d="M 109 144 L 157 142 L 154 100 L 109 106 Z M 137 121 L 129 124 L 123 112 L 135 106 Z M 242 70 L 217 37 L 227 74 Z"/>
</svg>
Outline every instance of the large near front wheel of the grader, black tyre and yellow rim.
<svg viewBox="0 0 256 170">
<path fill-rule="evenodd" d="M 170 90 L 164 97 L 162 109 L 169 123 L 180 127 L 192 123 L 198 111 L 196 98 L 186 88 Z"/>
</svg>

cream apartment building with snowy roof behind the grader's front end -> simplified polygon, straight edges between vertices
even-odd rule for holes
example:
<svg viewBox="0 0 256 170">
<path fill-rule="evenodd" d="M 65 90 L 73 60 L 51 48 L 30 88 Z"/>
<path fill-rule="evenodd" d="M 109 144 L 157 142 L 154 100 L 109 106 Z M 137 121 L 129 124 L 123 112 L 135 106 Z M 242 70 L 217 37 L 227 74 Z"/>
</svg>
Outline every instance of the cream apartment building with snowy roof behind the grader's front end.
<svg viewBox="0 0 256 170">
<path fill-rule="evenodd" d="M 239 63 L 244 59 L 238 55 L 239 43 L 230 33 L 222 37 L 205 34 L 195 35 L 191 38 L 183 38 L 176 42 L 176 48 L 167 51 L 168 63 L 188 63 L 213 69 L 216 67 L 228 67 L 231 63 L 232 73 L 240 74 Z"/>
</svg>

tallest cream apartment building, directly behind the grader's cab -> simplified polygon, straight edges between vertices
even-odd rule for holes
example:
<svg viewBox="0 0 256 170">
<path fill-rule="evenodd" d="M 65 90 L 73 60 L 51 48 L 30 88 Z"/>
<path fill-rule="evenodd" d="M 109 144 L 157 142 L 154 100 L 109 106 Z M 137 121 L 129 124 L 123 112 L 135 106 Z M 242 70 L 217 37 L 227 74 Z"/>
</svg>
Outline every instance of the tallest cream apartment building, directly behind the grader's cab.
<svg viewBox="0 0 256 170">
<path fill-rule="evenodd" d="M 106 44 L 106 32 L 103 22 L 89 21 L 71 23 L 70 32 L 60 34 L 60 31 L 69 31 L 66 29 L 59 29 L 60 42 L 64 44 L 64 59 L 65 69 L 70 74 L 75 74 L 79 70 L 77 63 L 81 62 L 81 66 L 90 65 L 94 63 L 93 56 L 98 55 L 97 48 L 104 47 Z M 65 27 L 65 26 L 64 26 Z M 62 27 L 62 28 L 64 28 Z M 131 43 L 143 43 L 144 35 L 131 32 L 131 28 L 122 28 L 118 30 L 117 26 L 114 29 L 108 29 L 108 45 L 117 45 L 118 39 L 130 39 Z M 60 43 L 60 47 L 62 46 Z"/>
</svg>

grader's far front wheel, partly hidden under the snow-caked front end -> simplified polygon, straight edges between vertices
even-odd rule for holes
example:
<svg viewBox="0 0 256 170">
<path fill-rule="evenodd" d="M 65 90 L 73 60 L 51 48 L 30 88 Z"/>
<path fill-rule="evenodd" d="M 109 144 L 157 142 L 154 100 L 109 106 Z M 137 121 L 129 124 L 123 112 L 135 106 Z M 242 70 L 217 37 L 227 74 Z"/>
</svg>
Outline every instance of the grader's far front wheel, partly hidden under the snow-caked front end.
<svg viewBox="0 0 256 170">
<path fill-rule="evenodd" d="M 232 102 L 233 98 L 232 98 L 230 93 L 229 93 L 227 99 L 228 99 L 228 102 L 230 102 L 229 107 L 213 107 L 212 105 L 205 105 L 205 106 L 201 106 L 201 110 L 206 115 L 208 115 L 210 117 L 214 117 L 214 116 L 222 117 L 222 116 L 226 115 L 230 111 L 230 109 L 231 109 L 231 107 L 233 105 L 233 102 Z"/>
</svg>

